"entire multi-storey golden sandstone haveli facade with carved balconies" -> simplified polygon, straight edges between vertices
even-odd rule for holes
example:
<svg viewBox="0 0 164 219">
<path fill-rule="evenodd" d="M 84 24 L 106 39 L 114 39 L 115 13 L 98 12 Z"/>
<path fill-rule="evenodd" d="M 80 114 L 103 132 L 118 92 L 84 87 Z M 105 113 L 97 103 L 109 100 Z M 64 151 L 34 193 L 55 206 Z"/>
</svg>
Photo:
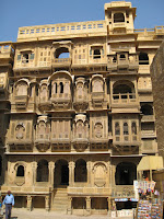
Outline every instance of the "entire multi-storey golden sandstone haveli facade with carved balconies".
<svg viewBox="0 0 164 219">
<path fill-rule="evenodd" d="M 0 182 L 17 207 L 107 214 L 134 197 L 141 158 L 159 153 L 150 65 L 164 39 L 134 18 L 110 2 L 103 21 L 0 43 Z"/>
</svg>

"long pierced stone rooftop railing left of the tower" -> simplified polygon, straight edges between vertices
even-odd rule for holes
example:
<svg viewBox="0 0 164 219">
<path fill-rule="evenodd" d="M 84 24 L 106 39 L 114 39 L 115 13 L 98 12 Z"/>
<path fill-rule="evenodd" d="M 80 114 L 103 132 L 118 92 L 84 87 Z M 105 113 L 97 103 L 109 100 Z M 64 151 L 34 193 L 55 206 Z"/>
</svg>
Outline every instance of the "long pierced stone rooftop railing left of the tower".
<svg viewBox="0 0 164 219">
<path fill-rule="evenodd" d="M 31 38 L 54 38 L 60 36 L 62 38 L 77 37 L 77 35 L 94 34 L 106 35 L 105 21 L 74 22 L 62 24 L 50 24 L 40 26 L 25 26 L 19 28 L 17 41 L 27 41 Z"/>
</svg>

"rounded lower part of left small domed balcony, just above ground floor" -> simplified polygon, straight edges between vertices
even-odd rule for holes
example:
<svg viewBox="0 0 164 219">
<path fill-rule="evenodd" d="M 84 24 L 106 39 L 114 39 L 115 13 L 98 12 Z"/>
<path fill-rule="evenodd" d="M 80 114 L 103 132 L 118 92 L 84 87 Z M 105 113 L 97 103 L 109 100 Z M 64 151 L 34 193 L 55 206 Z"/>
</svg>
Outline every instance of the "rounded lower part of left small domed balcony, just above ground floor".
<svg viewBox="0 0 164 219">
<path fill-rule="evenodd" d="M 50 147 L 49 134 L 36 135 L 35 146 L 40 152 L 46 152 Z"/>
</svg>

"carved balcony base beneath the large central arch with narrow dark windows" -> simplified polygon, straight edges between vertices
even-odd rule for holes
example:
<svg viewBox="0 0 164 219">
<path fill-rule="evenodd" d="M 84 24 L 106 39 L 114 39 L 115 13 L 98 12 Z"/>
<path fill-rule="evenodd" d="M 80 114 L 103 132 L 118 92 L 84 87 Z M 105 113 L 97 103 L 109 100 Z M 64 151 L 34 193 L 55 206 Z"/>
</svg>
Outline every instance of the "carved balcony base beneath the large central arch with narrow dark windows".
<svg viewBox="0 0 164 219">
<path fill-rule="evenodd" d="M 50 101 L 55 108 L 68 108 L 71 104 L 71 94 L 56 93 L 52 94 Z"/>
</svg>

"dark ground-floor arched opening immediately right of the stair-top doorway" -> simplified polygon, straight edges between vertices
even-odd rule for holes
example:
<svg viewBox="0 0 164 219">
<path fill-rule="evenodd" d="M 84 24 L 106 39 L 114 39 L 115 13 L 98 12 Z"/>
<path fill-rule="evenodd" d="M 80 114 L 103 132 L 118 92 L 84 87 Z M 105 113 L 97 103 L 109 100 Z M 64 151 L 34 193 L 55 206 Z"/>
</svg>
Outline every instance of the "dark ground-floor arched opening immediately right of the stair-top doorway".
<svg viewBox="0 0 164 219">
<path fill-rule="evenodd" d="M 86 162 L 83 159 L 79 159 L 75 162 L 74 181 L 75 182 L 86 182 L 87 181 Z"/>
</svg>

